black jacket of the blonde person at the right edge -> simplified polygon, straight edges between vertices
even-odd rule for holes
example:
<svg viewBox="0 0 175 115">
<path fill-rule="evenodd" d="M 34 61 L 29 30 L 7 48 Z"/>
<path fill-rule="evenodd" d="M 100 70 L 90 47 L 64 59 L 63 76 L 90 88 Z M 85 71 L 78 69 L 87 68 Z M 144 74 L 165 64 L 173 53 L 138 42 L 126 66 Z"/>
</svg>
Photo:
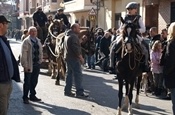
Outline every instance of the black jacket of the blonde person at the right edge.
<svg viewBox="0 0 175 115">
<path fill-rule="evenodd" d="M 175 40 L 167 43 L 163 74 L 166 87 L 175 88 Z"/>
</svg>

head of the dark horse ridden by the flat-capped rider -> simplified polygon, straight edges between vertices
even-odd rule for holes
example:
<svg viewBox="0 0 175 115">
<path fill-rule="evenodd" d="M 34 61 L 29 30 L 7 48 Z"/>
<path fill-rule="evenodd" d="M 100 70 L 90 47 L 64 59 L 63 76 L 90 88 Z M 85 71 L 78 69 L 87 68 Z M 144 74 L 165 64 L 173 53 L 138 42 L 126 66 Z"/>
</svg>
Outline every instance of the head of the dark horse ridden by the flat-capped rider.
<svg viewBox="0 0 175 115">
<path fill-rule="evenodd" d="M 122 34 L 124 38 L 124 43 L 128 51 L 132 50 L 132 46 L 137 42 L 137 17 L 133 21 L 125 21 L 121 17 Z"/>
</svg>

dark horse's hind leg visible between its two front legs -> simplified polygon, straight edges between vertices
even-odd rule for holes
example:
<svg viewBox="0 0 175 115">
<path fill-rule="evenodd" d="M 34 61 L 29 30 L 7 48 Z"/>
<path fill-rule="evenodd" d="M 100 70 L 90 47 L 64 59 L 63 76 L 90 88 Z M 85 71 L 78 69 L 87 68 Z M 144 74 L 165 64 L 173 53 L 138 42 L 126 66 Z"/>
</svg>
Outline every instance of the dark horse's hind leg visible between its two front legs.
<svg viewBox="0 0 175 115">
<path fill-rule="evenodd" d="M 127 80 L 125 80 L 125 89 L 126 89 L 126 94 L 125 94 L 125 99 L 124 99 L 124 104 L 122 106 L 122 110 L 127 110 L 128 103 L 129 103 L 129 98 L 128 98 L 128 81 Z"/>
</svg>

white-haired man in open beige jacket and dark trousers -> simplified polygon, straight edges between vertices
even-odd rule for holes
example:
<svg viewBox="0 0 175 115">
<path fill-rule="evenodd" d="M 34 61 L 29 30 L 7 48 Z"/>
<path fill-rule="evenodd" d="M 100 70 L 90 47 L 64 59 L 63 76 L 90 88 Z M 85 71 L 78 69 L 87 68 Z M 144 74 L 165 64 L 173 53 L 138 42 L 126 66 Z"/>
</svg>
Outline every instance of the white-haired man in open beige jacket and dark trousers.
<svg viewBox="0 0 175 115">
<path fill-rule="evenodd" d="M 37 29 L 33 26 L 28 29 L 29 36 L 24 39 L 21 47 L 21 65 L 24 68 L 23 102 L 41 101 L 36 97 L 36 85 L 42 63 L 42 44 L 37 38 Z M 28 97 L 30 91 L 30 98 Z"/>
</svg>

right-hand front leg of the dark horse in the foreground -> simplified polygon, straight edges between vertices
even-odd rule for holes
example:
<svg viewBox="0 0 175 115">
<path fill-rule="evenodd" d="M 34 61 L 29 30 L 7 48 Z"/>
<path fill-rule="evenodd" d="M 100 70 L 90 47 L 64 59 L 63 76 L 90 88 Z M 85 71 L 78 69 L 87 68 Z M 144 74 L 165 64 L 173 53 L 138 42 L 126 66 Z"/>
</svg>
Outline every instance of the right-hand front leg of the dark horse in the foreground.
<svg viewBox="0 0 175 115">
<path fill-rule="evenodd" d="M 128 97 L 129 97 L 129 107 L 128 107 L 128 115 L 132 115 L 132 98 L 133 98 L 133 86 L 134 86 L 134 81 L 131 81 L 131 83 L 129 84 L 129 92 L 128 92 Z"/>
</svg>

